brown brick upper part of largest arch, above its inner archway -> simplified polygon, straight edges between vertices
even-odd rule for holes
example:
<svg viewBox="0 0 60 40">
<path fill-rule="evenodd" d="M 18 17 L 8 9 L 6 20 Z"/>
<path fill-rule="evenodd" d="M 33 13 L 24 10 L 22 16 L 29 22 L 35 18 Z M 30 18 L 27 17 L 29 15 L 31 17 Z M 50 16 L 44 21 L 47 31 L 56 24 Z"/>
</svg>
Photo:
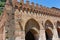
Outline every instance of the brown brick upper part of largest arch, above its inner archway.
<svg viewBox="0 0 60 40">
<path fill-rule="evenodd" d="M 36 29 L 40 30 L 39 23 L 35 19 L 31 18 L 25 24 L 25 31 L 29 30 L 29 29 L 31 29 L 33 27 L 35 27 Z"/>
</svg>

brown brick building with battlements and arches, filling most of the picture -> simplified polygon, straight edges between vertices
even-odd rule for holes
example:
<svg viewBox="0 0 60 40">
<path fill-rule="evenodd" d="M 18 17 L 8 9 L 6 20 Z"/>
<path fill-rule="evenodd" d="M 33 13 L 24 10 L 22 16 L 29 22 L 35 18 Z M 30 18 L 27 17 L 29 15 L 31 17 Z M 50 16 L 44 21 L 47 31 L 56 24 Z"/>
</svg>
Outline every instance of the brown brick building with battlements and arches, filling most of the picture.
<svg viewBox="0 0 60 40">
<path fill-rule="evenodd" d="M 60 9 L 6 0 L 0 40 L 60 40 Z"/>
</svg>

